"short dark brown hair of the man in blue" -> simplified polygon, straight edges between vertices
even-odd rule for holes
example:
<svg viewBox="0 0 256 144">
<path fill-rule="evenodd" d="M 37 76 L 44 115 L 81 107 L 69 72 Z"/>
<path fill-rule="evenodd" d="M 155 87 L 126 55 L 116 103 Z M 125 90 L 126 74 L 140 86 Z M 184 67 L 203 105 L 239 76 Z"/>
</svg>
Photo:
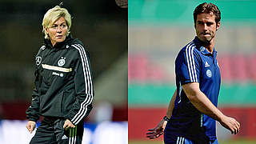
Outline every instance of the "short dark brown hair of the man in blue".
<svg viewBox="0 0 256 144">
<path fill-rule="evenodd" d="M 218 6 L 214 5 L 213 3 L 201 3 L 194 9 L 194 24 L 197 22 L 198 14 L 207 13 L 210 12 L 214 13 L 215 15 L 215 22 L 216 24 L 220 22 L 221 20 L 221 11 L 218 9 Z"/>
</svg>

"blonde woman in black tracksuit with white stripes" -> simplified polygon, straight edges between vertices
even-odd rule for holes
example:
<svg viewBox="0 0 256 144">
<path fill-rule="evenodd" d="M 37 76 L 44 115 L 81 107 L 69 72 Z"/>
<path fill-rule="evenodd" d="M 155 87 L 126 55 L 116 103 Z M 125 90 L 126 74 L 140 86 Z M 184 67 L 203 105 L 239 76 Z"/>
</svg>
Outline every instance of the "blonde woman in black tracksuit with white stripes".
<svg viewBox="0 0 256 144">
<path fill-rule="evenodd" d="M 44 44 L 35 58 L 35 89 L 26 110 L 30 143 L 82 143 L 84 118 L 92 109 L 90 59 L 81 41 L 70 35 L 71 16 L 60 6 L 42 20 Z"/>
</svg>

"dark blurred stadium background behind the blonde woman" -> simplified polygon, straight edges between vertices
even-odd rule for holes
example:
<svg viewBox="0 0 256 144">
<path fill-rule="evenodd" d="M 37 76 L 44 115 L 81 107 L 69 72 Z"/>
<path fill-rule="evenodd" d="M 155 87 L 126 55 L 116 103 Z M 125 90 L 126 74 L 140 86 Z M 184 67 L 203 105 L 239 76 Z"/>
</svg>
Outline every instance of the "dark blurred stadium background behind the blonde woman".
<svg viewBox="0 0 256 144">
<path fill-rule="evenodd" d="M 94 76 L 94 110 L 86 118 L 83 143 L 128 143 L 128 10 L 114 0 L 0 1 L 0 143 L 28 143 L 33 136 L 25 111 L 42 46 L 42 18 L 60 2 L 73 17 L 71 34 L 88 46 Z"/>
</svg>

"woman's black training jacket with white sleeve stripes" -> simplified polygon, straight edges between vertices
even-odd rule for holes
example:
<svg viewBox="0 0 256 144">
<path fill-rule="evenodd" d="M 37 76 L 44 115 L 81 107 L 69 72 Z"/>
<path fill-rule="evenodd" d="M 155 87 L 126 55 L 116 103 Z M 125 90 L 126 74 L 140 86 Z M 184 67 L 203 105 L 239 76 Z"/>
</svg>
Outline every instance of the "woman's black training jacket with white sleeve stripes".
<svg viewBox="0 0 256 144">
<path fill-rule="evenodd" d="M 53 47 L 49 39 L 35 58 L 35 88 L 26 118 L 37 122 L 40 115 L 67 118 L 74 125 L 92 109 L 94 88 L 89 53 L 71 36 Z"/>
</svg>

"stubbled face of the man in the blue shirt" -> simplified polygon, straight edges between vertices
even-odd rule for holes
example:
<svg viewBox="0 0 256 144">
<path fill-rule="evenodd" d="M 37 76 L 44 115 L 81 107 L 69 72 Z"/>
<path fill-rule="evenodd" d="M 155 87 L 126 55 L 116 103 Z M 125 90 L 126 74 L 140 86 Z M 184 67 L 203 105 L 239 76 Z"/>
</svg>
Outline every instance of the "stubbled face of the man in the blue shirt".
<svg viewBox="0 0 256 144">
<path fill-rule="evenodd" d="M 215 15 L 213 13 L 198 14 L 197 22 L 194 24 L 198 38 L 202 42 L 210 42 L 216 34 L 220 26 L 220 22 L 215 22 Z"/>
</svg>

